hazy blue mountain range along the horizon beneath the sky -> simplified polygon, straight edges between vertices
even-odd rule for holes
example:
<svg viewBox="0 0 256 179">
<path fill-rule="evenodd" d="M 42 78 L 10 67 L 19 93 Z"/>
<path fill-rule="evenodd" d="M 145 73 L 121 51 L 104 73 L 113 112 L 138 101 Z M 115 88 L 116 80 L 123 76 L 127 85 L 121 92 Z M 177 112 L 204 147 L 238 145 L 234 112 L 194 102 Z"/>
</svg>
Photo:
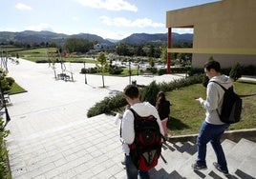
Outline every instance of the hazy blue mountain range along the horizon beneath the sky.
<svg viewBox="0 0 256 179">
<path fill-rule="evenodd" d="M 11 31 L 0 31 L 0 44 L 8 44 L 9 42 L 19 42 L 26 44 L 40 44 L 42 42 L 48 43 L 57 43 L 62 44 L 67 38 L 84 38 L 90 41 L 95 40 L 98 43 L 114 45 L 118 43 L 126 44 L 148 44 L 148 43 L 158 43 L 166 44 L 167 43 L 167 33 L 134 33 L 122 40 L 113 40 L 113 39 L 103 39 L 102 37 L 96 34 L 90 33 L 78 33 L 67 35 L 64 33 L 55 33 L 52 31 L 32 31 L 25 30 L 21 32 L 11 32 Z M 192 33 L 172 33 L 172 43 L 192 43 L 193 34 Z"/>
</svg>

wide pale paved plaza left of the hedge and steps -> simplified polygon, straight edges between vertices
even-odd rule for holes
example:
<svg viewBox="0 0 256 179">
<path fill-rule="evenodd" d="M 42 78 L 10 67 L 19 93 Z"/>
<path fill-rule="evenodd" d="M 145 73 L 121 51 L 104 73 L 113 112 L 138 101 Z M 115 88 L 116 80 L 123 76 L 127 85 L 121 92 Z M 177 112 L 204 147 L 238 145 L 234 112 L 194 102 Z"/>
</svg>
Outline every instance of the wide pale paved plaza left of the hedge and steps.
<svg viewBox="0 0 256 179">
<path fill-rule="evenodd" d="M 60 73 L 60 65 L 56 73 Z M 79 71 L 83 64 L 66 64 L 74 72 L 75 82 L 55 80 L 48 64 L 20 59 L 9 63 L 9 76 L 28 92 L 11 95 L 11 130 L 7 138 L 13 179 L 28 178 L 125 178 L 119 142 L 119 129 L 113 116 L 87 118 L 88 109 L 122 91 L 129 77 L 105 76 Z M 139 85 L 152 81 L 169 82 L 179 75 L 132 76 Z"/>
</svg>

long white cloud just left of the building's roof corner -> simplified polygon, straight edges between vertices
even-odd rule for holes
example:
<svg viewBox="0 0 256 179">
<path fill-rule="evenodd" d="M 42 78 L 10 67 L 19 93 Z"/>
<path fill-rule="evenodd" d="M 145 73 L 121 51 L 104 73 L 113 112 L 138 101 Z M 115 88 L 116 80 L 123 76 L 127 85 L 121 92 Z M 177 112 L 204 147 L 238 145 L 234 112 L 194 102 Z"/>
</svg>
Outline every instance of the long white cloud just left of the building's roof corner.
<svg viewBox="0 0 256 179">
<path fill-rule="evenodd" d="M 110 18 L 108 16 L 100 16 L 101 22 L 107 26 L 117 26 L 117 27 L 129 27 L 129 28 L 164 28 L 163 23 L 155 23 L 149 18 L 136 19 L 131 21 L 123 17 Z"/>
</svg>

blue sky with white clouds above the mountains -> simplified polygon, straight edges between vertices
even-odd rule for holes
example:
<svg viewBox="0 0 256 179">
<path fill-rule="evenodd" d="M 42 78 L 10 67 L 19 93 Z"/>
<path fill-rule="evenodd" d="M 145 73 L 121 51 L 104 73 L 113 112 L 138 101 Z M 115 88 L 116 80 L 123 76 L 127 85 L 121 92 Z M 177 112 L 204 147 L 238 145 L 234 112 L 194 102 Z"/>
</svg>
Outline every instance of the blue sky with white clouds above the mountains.
<svg viewBox="0 0 256 179">
<path fill-rule="evenodd" d="M 219 0 L 0 0 L 0 31 L 91 33 L 120 40 L 133 33 L 165 33 L 166 11 Z M 193 33 L 192 29 L 173 32 Z"/>
</svg>

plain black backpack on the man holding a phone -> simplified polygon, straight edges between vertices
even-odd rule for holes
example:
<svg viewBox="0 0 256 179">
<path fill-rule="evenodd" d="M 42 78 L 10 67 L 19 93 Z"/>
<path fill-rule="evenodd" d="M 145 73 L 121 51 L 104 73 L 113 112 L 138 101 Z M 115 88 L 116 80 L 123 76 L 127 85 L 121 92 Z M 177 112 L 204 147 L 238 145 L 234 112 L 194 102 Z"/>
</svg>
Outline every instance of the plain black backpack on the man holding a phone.
<svg viewBox="0 0 256 179">
<path fill-rule="evenodd" d="M 221 113 L 217 110 L 220 119 L 226 124 L 237 123 L 241 119 L 242 113 L 242 99 L 238 94 L 234 92 L 233 86 L 229 89 L 225 89 L 224 86 L 216 81 L 211 81 L 224 89 L 224 103 Z"/>
</svg>

